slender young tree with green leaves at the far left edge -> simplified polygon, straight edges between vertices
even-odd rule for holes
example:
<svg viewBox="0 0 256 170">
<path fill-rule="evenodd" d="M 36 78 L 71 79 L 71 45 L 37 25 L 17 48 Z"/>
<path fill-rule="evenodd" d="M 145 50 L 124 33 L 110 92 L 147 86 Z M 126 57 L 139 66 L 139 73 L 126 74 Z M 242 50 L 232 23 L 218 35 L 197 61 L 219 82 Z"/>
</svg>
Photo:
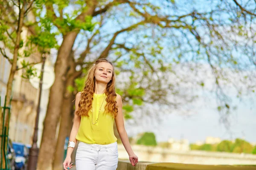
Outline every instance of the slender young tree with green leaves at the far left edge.
<svg viewBox="0 0 256 170">
<path fill-rule="evenodd" d="M 3 42 L 3 47 L 0 47 L 0 52 L 5 57 L 11 66 L 11 71 L 9 74 L 9 79 L 7 82 L 7 91 L 6 91 L 6 105 L 10 105 L 11 92 L 12 92 L 12 82 L 14 79 L 15 72 L 18 69 L 28 68 L 31 63 L 21 62 L 22 68 L 17 68 L 17 61 L 20 57 L 27 57 L 26 54 L 19 53 L 20 48 L 23 47 L 23 40 L 21 39 L 21 32 L 24 25 L 24 18 L 31 10 L 34 0 L 24 0 L 24 1 L 6 1 L 3 0 L 0 2 L 0 41 Z M 18 9 L 18 14 L 14 11 L 14 6 Z M 6 50 L 12 52 L 13 56 L 8 56 Z M 31 69 L 29 69 L 31 70 Z M 8 113 L 8 110 L 6 111 Z M 4 120 L 3 124 L 9 129 L 9 114 L 6 114 L 5 117 L 1 114 L 1 120 Z M 2 132 L 2 121 L 0 122 L 0 132 Z M 0 140 L 0 146 L 2 146 Z M 7 141 L 7 137 L 5 139 Z M 7 142 L 6 142 L 7 143 Z M 4 146 L 6 150 L 7 146 Z M 1 152 L 4 153 L 4 152 Z M 0 155 L 1 161 L 5 162 L 5 157 Z M 5 168 L 5 164 L 3 164 Z"/>
</svg>

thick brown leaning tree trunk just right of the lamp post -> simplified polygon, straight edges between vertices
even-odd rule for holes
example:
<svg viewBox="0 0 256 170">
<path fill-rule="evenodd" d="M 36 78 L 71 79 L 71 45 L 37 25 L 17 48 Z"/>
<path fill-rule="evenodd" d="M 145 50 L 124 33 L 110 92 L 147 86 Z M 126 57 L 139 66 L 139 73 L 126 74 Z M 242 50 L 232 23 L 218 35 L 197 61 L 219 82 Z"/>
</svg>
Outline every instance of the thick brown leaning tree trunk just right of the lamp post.
<svg viewBox="0 0 256 170">
<path fill-rule="evenodd" d="M 55 133 L 61 116 L 63 95 L 65 92 L 68 61 L 78 32 L 69 32 L 64 36 L 55 63 L 55 82 L 50 89 L 44 130 L 38 156 L 37 170 L 52 170 L 55 153 Z"/>
</svg>

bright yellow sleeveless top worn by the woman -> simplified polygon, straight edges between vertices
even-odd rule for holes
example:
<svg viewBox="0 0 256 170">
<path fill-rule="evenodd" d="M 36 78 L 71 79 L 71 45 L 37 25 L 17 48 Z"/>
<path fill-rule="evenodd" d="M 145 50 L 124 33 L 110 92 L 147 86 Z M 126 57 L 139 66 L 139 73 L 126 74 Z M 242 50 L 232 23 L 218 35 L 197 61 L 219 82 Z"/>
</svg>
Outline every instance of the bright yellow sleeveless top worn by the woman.
<svg viewBox="0 0 256 170">
<path fill-rule="evenodd" d="M 93 94 L 93 124 L 99 115 L 98 122 L 95 125 L 92 124 L 92 111 L 89 111 L 89 116 L 81 116 L 76 135 L 77 140 L 88 144 L 111 144 L 116 142 L 117 139 L 113 129 L 114 117 L 104 113 L 107 103 L 106 98 L 105 94 Z M 99 113 L 100 107 L 101 111 Z"/>
</svg>

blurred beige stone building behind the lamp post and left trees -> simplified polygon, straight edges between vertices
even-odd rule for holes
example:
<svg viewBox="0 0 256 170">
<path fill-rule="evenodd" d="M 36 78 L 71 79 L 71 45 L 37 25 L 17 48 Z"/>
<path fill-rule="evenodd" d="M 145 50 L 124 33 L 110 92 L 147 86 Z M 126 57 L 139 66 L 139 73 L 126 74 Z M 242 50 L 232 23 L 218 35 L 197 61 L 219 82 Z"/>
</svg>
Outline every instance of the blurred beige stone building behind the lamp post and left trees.
<svg viewBox="0 0 256 170">
<path fill-rule="evenodd" d="M 21 38 L 23 42 L 26 42 L 26 38 L 29 36 L 29 31 L 26 27 L 23 27 Z M 3 47 L 3 42 L 0 42 Z M 21 48 L 23 51 L 25 47 Z M 36 51 L 36 50 L 35 50 Z M 5 49 L 8 57 L 12 59 L 12 53 Z M 29 57 L 23 58 L 29 62 L 40 62 L 41 54 L 35 52 Z M 22 59 L 18 60 L 17 68 L 21 67 Z M 6 96 L 7 82 L 9 79 L 9 73 L 11 64 L 9 61 L 0 54 L 0 95 L 1 95 L 1 106 L 4 104 Z M 9 127 L 9 138 L 14 142 L 21 142 L 24 144 L 32 144 L 32 135 L 35 127 L 35 117 L 37 113 L 38 105 L 38 89 L 34 88 L 28 79 L 22 78 L 22 69 L 19 69 L 15 73 L 14 81 L 12 83 L 12 102 L 11 102 L 11 116 L 10 116 L 10 127 Z M 46 112 L 47 101 L 48 101 L 49 90 L 42 91 L 41 112 Z M 41 133 L 43 129 L 44 115 L 40 115 L 39 132 L 38 132 L 38 147 L 41 142 Z"/>
</svg>

